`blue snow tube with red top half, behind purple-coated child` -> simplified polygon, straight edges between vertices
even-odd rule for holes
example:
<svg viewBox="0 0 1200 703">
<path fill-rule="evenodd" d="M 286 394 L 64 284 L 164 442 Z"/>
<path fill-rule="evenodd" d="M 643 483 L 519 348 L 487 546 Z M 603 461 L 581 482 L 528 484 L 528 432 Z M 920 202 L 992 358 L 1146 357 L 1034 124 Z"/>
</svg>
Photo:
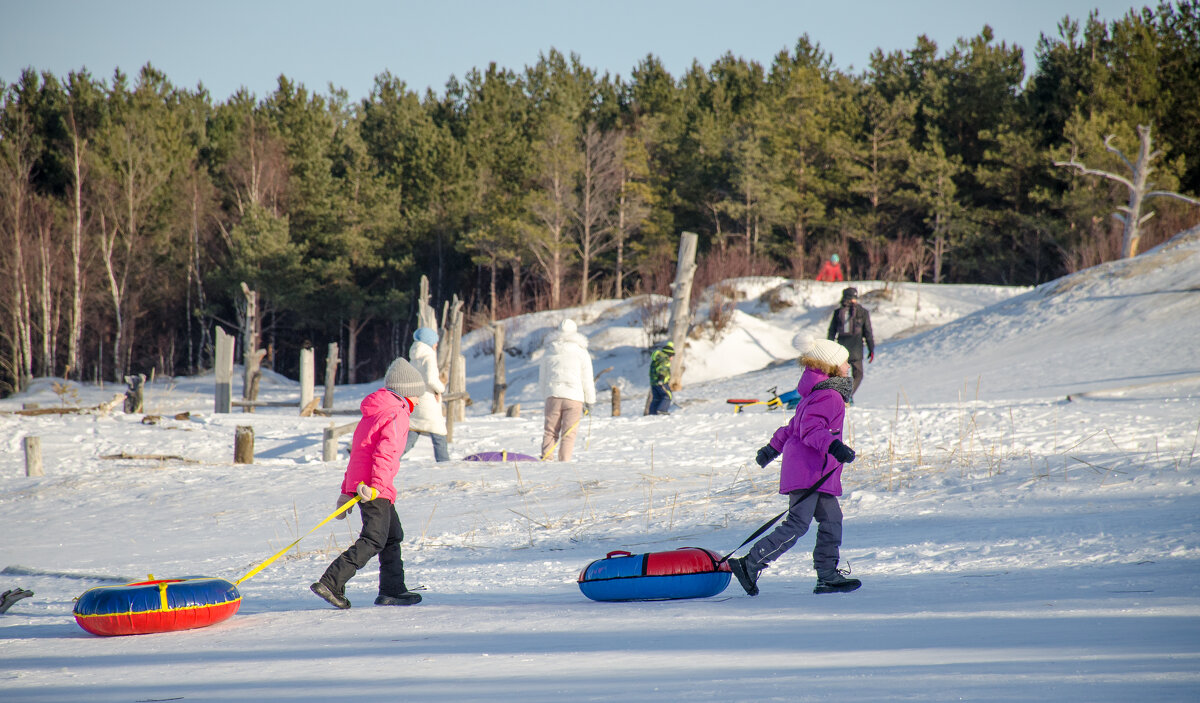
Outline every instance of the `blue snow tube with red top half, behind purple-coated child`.
<svg viewBox="0 0 1200 703">
<path fill-rule="evenodd" d="M 580 572 L 580 590 L 594 601 L 661 601 L 714 596 L 730 584 L 730 565 L 709 549 L 631 554 L 608 552 Z"/>
</svg>

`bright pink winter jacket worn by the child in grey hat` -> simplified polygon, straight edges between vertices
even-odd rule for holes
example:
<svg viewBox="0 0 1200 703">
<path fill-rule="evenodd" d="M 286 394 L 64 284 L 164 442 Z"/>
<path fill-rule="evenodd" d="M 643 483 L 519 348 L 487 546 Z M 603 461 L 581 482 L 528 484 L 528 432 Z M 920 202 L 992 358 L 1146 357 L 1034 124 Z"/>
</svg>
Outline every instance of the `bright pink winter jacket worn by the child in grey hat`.
<svg viewBox="0 0 1200 703">
<path fill-rule="evenodd" d="M 354 428 L 350 462 L 342 479 L 342 493 L 354 495 L 359 483 L 379 492 L 379 498 L 396 501 L 396 473 L 408 439 L 408 416 L 415 405 L 388 389 L 362 398 L 362 419 Z"/>
</svg>

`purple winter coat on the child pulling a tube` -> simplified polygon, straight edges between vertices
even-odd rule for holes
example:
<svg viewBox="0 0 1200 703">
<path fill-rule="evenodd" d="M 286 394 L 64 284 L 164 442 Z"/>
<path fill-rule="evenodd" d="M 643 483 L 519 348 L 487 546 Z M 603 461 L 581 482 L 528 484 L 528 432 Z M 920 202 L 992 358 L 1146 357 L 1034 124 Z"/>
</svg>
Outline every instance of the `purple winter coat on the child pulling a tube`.
<svg viewBox="0 0 1200 703">
<path fill-rule="evenodd" d="M 846 402 L 833 389 L 812 391 L 812 386 L 827 378 L 814 368 L 804 369 L 796 387 L 802 397 L 796 415 L 770 438 L 770 445 L 784 455 L 779 469 L 780 493 L 809 488 L 833 470 L 817 491 L 841 495 L 841 463 L 829 455 L 829 445 L 841 439 Z"/>
</svg>

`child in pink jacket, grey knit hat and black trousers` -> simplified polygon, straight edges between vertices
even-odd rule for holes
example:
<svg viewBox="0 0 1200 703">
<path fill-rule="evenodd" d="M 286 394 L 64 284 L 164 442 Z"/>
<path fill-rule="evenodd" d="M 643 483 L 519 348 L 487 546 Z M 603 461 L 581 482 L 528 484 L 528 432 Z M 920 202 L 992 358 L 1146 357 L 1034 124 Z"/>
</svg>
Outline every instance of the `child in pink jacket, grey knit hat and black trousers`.
<svg viewBox="0 0 1200 703">
<path fill-rule="evenodd" d="M 342 479 L 341 507 L 359 497 L 362 533 L 350 548 L 329 565 L 310 588 L 337 608 L 350 607 L 346 582 L 372 557 L 379 557 L 379 596 L 377 606 L 410 606 L 421 602 L 420 594 L 404 585 L 404 561 L 400 542 L 404 530 L 396 515 L 396 473 L 408 438 L 408 417 L 416 407 L 414 398 L 425 392 L 425 379 L 408 361 L 396 359 L 388 367 L 384 387 L 362 399 L 362 419 L 354 428 L 350 461 Z M 338 518 L 344 518 L 349 511 Z"/>
</svg>

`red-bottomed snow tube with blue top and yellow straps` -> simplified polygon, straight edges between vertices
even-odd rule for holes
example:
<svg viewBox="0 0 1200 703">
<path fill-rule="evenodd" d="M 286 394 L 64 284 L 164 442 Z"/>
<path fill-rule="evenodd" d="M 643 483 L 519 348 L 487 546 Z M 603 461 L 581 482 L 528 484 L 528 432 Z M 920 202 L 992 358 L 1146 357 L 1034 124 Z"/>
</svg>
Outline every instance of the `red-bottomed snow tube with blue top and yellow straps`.
<svg viewBox="0 0 1200 703">
<path fill-rule="evenodd" d="M 241 594 L 223 578 L 160 578 L 104 585 L 76 601 L 76 623 L 92 635 L 148 635 L 220 623 L 238 612 Z"/>
</svg>

